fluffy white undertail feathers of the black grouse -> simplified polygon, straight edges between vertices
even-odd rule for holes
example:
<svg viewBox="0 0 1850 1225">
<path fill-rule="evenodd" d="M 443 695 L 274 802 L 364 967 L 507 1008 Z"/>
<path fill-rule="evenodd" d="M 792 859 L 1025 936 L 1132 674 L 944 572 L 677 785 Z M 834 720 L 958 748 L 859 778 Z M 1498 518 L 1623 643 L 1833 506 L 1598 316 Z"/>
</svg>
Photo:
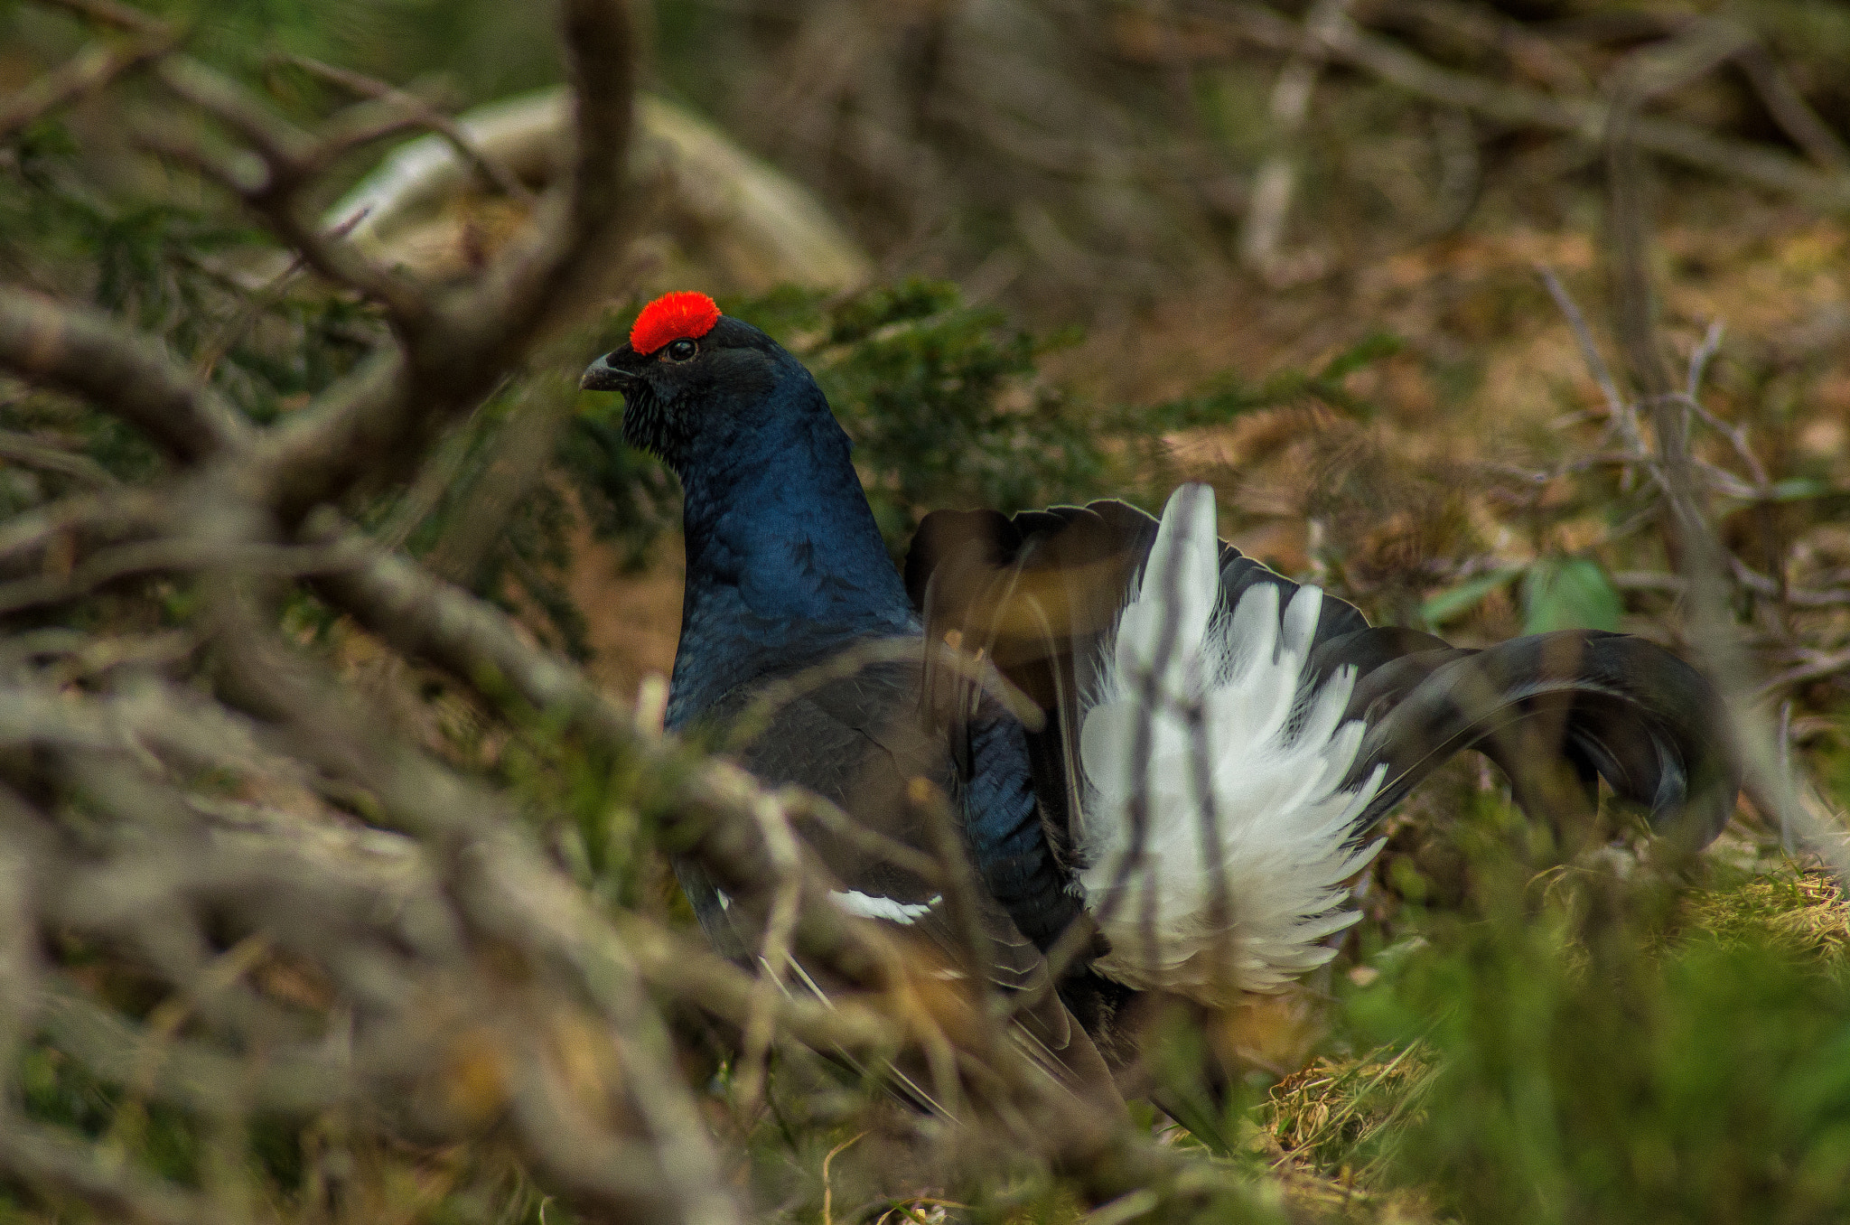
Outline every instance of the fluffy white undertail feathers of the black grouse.
<svg viewBox="0 0 1850 1225">
<path fill-rule="evenodd" d="M 1219 590 L 1214 490 L 1184 485 L 1104 648 L 1079 738 L 1079 883 L 1112 942 L 1097 970 L 1210 1003 L 1276 990 L 1336 955 L 1325 938 L 1360 918 L 1347 881 L 1382 846 L 1358 846 L 1354 822 L 1386 770 L 1341 788 L 1363 725 L 1341 722 L 1352 668 L 1308 690 L 1323 592 L 1301 587 L 1280 622 L 1273 583 L 1249 587 L 1230 616 Z"/>
</svg>

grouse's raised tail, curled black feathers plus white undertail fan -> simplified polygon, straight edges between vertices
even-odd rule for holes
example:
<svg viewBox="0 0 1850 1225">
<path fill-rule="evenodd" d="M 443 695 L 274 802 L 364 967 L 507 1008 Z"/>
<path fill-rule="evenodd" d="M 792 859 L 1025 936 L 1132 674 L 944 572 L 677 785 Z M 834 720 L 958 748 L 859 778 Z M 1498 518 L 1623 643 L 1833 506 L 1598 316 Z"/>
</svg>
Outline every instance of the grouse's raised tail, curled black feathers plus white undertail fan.
<svg viewBox="0 0 1850 1225">
<path fill-rule="evenodd" d="M 1733 809 L 1719 698 L 1663 648 L 1371 627 L 1219 542 L 1204 487 L 1160 522 L 1116 501 L 931 514 L 906 585 L 932 637 L 1047 712 L 1042 827 L 1106 936 L 1095 968 L 1132 986 L 1219 997 L 1326 960 L 1369 831 L 1460 749 L 1558 827 L 1598 779 L 1691 844 Z"/>
</svg>

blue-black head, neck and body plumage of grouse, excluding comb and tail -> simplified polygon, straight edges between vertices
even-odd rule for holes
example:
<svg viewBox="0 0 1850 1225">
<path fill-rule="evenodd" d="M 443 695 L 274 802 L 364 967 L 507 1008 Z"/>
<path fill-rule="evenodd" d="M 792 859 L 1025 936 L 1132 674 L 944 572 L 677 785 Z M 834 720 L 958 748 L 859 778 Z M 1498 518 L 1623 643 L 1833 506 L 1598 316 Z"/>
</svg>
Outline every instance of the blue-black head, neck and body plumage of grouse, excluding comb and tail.
<svg viewBox="0 0 1850 1225">
<path fill-rule="evenodd" d="M 686 587 L 668 729 L 736 725 L 786 687 L 762 727 L 731 746 L 762 781 L 799 785 L 927 855 L 932 840 L 918 781 L 929 796 L 977 814 L 966 827 L 982 846 L 986 973 L 1005 990 L 1043 983 L 1036 940 L 1014 925 L 1006 901 L 1025 914 L 1077 903 L 1064 896 L 1042 838 L 1025 729 L 993 701 L 979 703 L 968 722 L 975 766 L 953 761 L 942 729 L 921 718 L 921 620 L 860 492 L 847 435 L 808 372 L 762 333 L 722 318 L 710 335 L 731 350 L 729 368 L 686 400 L 729 400 L 731 411 L 705 413 L 701 429 L 686 427 L 683 403 L 635 381 L 623 387 L 625 437 L 662 455 L 683 481 Z M 871 648 L 873 662 L 827 668 L 860 648 Z M 831 894 L 836 905 L 901 929 L 938 973 L 960 973 L 964 936 L 936 885 L 812 822 L 797 833 L 840 883 Z M 694 860 L 681 859 L 675 870 L 709 938 L 749 962 L 758 934 L 751 920 Z M 1042 933 L 1042 942 L 1053 934 Z M 820 971 L 799 981 L 829 988 Z M 1051 1066 L 1104 1075 L 1058 999 L 1019 1021 L 1018 1040 Z"/>
</svg>

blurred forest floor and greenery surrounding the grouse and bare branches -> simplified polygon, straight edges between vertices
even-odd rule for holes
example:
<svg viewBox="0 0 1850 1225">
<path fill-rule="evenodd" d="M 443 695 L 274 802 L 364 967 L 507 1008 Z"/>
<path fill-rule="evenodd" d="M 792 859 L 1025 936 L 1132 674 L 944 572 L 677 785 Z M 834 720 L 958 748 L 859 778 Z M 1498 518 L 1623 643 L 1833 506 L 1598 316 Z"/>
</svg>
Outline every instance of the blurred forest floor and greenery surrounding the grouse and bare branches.
<svg viewBox="0 0 1850 1225">
<path fill-rule="evenodd" d="M 320 65 L 448 113 L 561 78 L 544 4 L 141 7 L 303 124 L 359 89 Z M 1578 303 L 1593 348 L 1615 353 L 1606 161 L 1598 131 L 1561 115 L 1613 96 L 1652 48 L 1720 39 L 1733 50 L 1650 107 L 1659 328 L 1700 390 L 1696 453 L 1733 557 L 1752 699 L 1824 805 L 1850 805 L 1850 7 L 688 0 L 635 13 L 660 111 L 633 170 L 629 291 L 509 372 L 416 481 L 348 507 L 612 694 L 633 699 L 672 659 L 679 503 L 673 477 L 623 448 L 614 398 L 581 396 L 575 372 L 653 292 L 684 287 L 816 370 L 895 555 L 936 507 L 1154 507 L 1195 477 L 1215 483 L 1228 538 L 1375 620 L 1465 644 L 1593 625 L 1687 646 L 1661 498 L 1563 311 Z M 68 7 L 0 0 L 0 117 L 92 37 Z M 0 128 L 0 278 L 155 333 L 252 420 L 285 420 L 387 326 L 150 155 L 174 122 L 128 72 Z M 533 130 L 507 154 L 529 191 L 555 172 Z M 331 167 L 318 202 L 331 224 L 385 154 L 368 144 Z M 755 215 L 757 196 L 727 196 L 742 176 L 773 181 L 788 207 Z M 364 241 L 462 281 L 529 205 L 462 178 Z M 538 442 L 535 420 L 549 422 Z M 157 463 L 113 416 L 4 379 L 0 461 L 7 520 L 144 481 Z M 185 581 L 150 579 L 9 620 L 154 631 L 185 625 L 189 600 Z M 520 796 L 603 905 L 684 922 L 622 770 L 390 657 L 313 594 L 290 618 L 418 742 Z M 1388 833 L 1362 886 L 1367 922 L 1328 971 L 1158 1051 L 1182 1079 L 1202 1049 L 1238 1068 L 1217 1136 L 1151 1120 L 1232 1179 L 1215 1219 L 1850 1216 L 1850 907 L 1793 831 L 1743 803 L 1696 862 L 1622 840 L 1558 864 L 1500 781 L 1463 762 Z M 107 949 L 59 955 L 128 1014 L 159 1005 Z M 283 970 L 272 979 L 290 990 Z M 842 1147 L 864 1131 L 858 1090 L 796 1058 L 768 1107 L 740 1118 L 723 1055 L 686 1046 L 764 1219 L 1080 1216 L 1062 1186 L 1005 1162 L 903 1184 L 882 1166 L 890 1149 Z M 222 1195 L 242 1186 L 253 1219 L 570 1219 L 490 1125 L 433 1145 L 379 1120 L 263 1116 L 228 1136 L 57 1033 L 20 1044 L 7 1084 L 26 1116 L 111 1160 Z M 1151 1195 L 1093 1219 L 1169 1210 Z M 76 1216 L 0 1177 L 0 1219 Z"/>
</svg>

